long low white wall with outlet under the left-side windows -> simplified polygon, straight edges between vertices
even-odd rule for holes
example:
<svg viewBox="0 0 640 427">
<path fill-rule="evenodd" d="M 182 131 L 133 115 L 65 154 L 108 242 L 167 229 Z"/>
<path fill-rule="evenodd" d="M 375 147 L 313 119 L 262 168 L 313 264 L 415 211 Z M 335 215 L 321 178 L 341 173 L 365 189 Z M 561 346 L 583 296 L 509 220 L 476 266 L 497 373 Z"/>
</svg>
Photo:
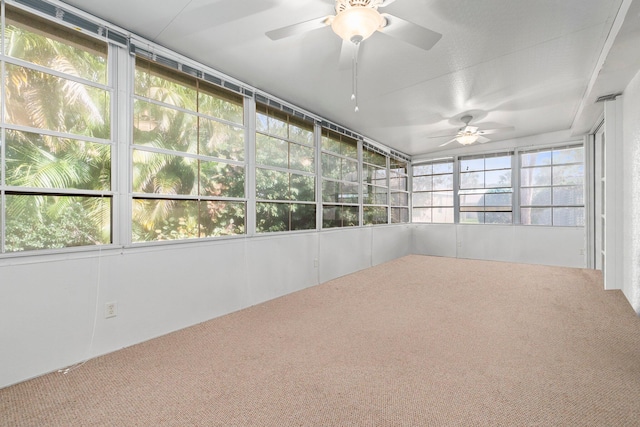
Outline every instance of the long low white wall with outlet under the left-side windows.
<svg viewBox="0 0 640 427">
<path fill-rule="evenodd" d="M 399 258 L 410 239 L 393 225 L 4 258 L 0 387 Z"/>
</svg>

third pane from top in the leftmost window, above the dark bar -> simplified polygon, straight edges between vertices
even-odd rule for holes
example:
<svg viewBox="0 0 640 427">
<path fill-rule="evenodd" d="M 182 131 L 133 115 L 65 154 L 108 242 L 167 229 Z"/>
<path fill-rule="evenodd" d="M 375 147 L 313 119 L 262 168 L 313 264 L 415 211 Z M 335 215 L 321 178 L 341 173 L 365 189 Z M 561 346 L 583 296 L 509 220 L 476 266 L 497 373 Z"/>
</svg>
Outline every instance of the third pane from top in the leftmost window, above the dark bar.
<svg viewBox="0 0 640 427">
<path fill-rule="evenodd" d="M 111 189 L 111 146 L 30 132 L 6 131 L 7 185 Z"/>
</svg>

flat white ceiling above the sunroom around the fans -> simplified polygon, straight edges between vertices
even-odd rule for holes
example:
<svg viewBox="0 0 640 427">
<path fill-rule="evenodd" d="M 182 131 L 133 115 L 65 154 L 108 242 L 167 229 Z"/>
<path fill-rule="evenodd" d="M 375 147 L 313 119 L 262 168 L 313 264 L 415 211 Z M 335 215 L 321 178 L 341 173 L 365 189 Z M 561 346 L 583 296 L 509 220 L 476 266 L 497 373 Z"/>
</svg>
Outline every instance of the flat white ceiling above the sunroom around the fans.
<svg viewBox="0 0 640 427">
<path fill-rule="evenodd" d="M 481 129 L 515 128 L 494 140 L 584 133 L 595 98 L 640 68 L 640 0 L 396 0 L 384 12 L 442 39 L 429 51 L 382 33 L 365 40 L 356 113 L 330 28 L 265 35 L 334 14 L 331 0 L 65 3 L 410 155 L 439 150 L 450 138 L 428 137 L 455 133 L 468 113 Z"/>
</svg>

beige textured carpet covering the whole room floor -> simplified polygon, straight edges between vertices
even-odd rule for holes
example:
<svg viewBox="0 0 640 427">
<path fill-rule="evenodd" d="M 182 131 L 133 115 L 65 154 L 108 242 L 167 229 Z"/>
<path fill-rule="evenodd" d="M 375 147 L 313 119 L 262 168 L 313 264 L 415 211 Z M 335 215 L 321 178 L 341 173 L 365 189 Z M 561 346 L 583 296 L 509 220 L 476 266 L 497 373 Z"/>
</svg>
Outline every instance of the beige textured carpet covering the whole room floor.
<svg viewBox="0 0 640 427">
<path fill-rule="evenodd" d="M 640 426 L 598 272 L 408 256 L 0 390 L 2 426 Z"/>
</svg>

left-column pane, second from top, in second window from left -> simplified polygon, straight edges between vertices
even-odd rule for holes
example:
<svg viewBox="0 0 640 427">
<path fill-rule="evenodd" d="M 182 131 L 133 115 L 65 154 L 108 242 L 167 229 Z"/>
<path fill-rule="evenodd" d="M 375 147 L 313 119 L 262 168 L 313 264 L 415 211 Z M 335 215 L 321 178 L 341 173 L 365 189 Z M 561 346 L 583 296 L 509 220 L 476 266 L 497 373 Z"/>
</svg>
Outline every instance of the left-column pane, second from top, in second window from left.
<svg viewBox="0 0 640 427">
<path fill-rule="evenodd" d="M 196 154 L 198 118 L 193 114 L 134 100 L 133 143 Z"/>
</svg>

